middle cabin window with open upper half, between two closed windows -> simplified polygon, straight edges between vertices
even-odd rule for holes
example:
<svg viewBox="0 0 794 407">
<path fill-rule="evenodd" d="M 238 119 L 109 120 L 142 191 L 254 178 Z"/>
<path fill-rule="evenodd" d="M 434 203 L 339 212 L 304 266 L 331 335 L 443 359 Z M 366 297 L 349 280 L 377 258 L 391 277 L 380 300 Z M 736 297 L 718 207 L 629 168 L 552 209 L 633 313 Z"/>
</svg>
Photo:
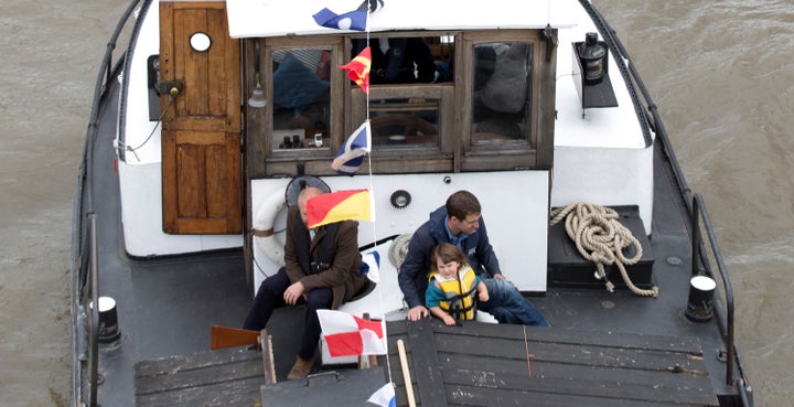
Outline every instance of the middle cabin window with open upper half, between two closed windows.
<svg viewBox="0 0 794 407">
<path fill-rule="evenodd" d="M 366 39 L 353 39 L 351 55 L 366 44 Z M 351 85 L 352 116 L 355 124 L 368 115 L 377 156 L 388 160 L 406 150 L 414 157 L 451 154 L 441 135 L 453 132 L 454 35 L 384 34 L 371 38 L 369 49 L 369 97 Z"/>
</svg>

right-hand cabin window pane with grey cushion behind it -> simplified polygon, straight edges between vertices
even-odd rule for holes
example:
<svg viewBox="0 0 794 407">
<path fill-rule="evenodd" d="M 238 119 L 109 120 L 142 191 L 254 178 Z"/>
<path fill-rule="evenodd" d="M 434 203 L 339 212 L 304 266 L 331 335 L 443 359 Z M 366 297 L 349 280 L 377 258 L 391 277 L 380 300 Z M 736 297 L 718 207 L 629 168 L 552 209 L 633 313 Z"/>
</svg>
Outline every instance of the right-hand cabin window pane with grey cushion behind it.
<svg viewBox="0 0 794 407">
<path fill-rule="evenodd" d="M 474 46 L 472 144 L 515 148 L 532 140 L 532 58 L 527 42 Z"/>
</svg>

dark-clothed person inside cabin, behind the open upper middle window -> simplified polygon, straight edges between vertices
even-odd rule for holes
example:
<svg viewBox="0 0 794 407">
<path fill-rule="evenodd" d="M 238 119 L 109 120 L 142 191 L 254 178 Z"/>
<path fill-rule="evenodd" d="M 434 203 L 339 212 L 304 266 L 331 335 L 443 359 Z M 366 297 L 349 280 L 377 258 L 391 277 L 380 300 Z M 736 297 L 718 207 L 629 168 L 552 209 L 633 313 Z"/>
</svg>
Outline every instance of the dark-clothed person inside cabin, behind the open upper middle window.
<svg viewBox="0 0 794 407">
<path fill-rule="evenodd" d="M 356 41 L 353 55 L 366 46 Z M 436 81 L 436 61 L 420 38 L 380 38 L 372 42 L 369 84 L 414 84 Z"/>
</svg>

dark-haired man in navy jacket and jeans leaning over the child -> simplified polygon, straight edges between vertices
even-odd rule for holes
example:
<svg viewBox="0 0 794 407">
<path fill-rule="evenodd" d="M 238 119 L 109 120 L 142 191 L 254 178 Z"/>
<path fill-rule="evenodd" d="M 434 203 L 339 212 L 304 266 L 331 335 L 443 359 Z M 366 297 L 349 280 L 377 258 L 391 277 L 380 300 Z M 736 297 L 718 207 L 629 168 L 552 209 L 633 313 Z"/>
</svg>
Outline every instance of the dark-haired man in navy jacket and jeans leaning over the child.
<svg viewBox="0 0 794 407">
<path fill-rule="evenodd" d="M 487 288 L 489 300 L 480 302 L 482 311 L 500 323 L 549 326 L 546 317 L 502 274 L 481 213 L 474 194 L 458 191 L 414 233 L 397 276 L 409 308 L 408 320 L 429 315 L 425 296 L 432 250 L 441 243 L 451 243 L 466 255 L 466 261 Z"/>
</svg>

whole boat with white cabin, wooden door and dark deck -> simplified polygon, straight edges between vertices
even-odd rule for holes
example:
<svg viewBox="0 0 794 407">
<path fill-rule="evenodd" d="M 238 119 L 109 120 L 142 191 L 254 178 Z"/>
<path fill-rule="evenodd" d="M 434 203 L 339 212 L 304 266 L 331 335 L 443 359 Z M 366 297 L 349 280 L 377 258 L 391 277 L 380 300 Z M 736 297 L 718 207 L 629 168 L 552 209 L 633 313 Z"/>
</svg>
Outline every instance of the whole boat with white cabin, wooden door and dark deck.
<svg viewBox="0 0 794 407">
<path fill-rule="evenodd" d="M 411 44 L 432 69 L 393 62 Z M 386 56 L 367 83 L 343 69 L 364 46 Z M 341 174 L 363 124 L 369 151 Z M 382 321 L 388 351 L 323 342 L 286 381 L 300 308 L 235 330 L 305 185 L 369 192 L 358 244 L 379 279 L 340 311 Z M 406 320 L 407 242 L 459 190 L 550 328 Z M 389 384 L 400 406 L 753 405 L 705 200 L 587 0 L 133 0 L 74 202 L 74 406 L 372 405 Z M 604 235 L 615 248 L 580 248 Z"/>
</svg>

